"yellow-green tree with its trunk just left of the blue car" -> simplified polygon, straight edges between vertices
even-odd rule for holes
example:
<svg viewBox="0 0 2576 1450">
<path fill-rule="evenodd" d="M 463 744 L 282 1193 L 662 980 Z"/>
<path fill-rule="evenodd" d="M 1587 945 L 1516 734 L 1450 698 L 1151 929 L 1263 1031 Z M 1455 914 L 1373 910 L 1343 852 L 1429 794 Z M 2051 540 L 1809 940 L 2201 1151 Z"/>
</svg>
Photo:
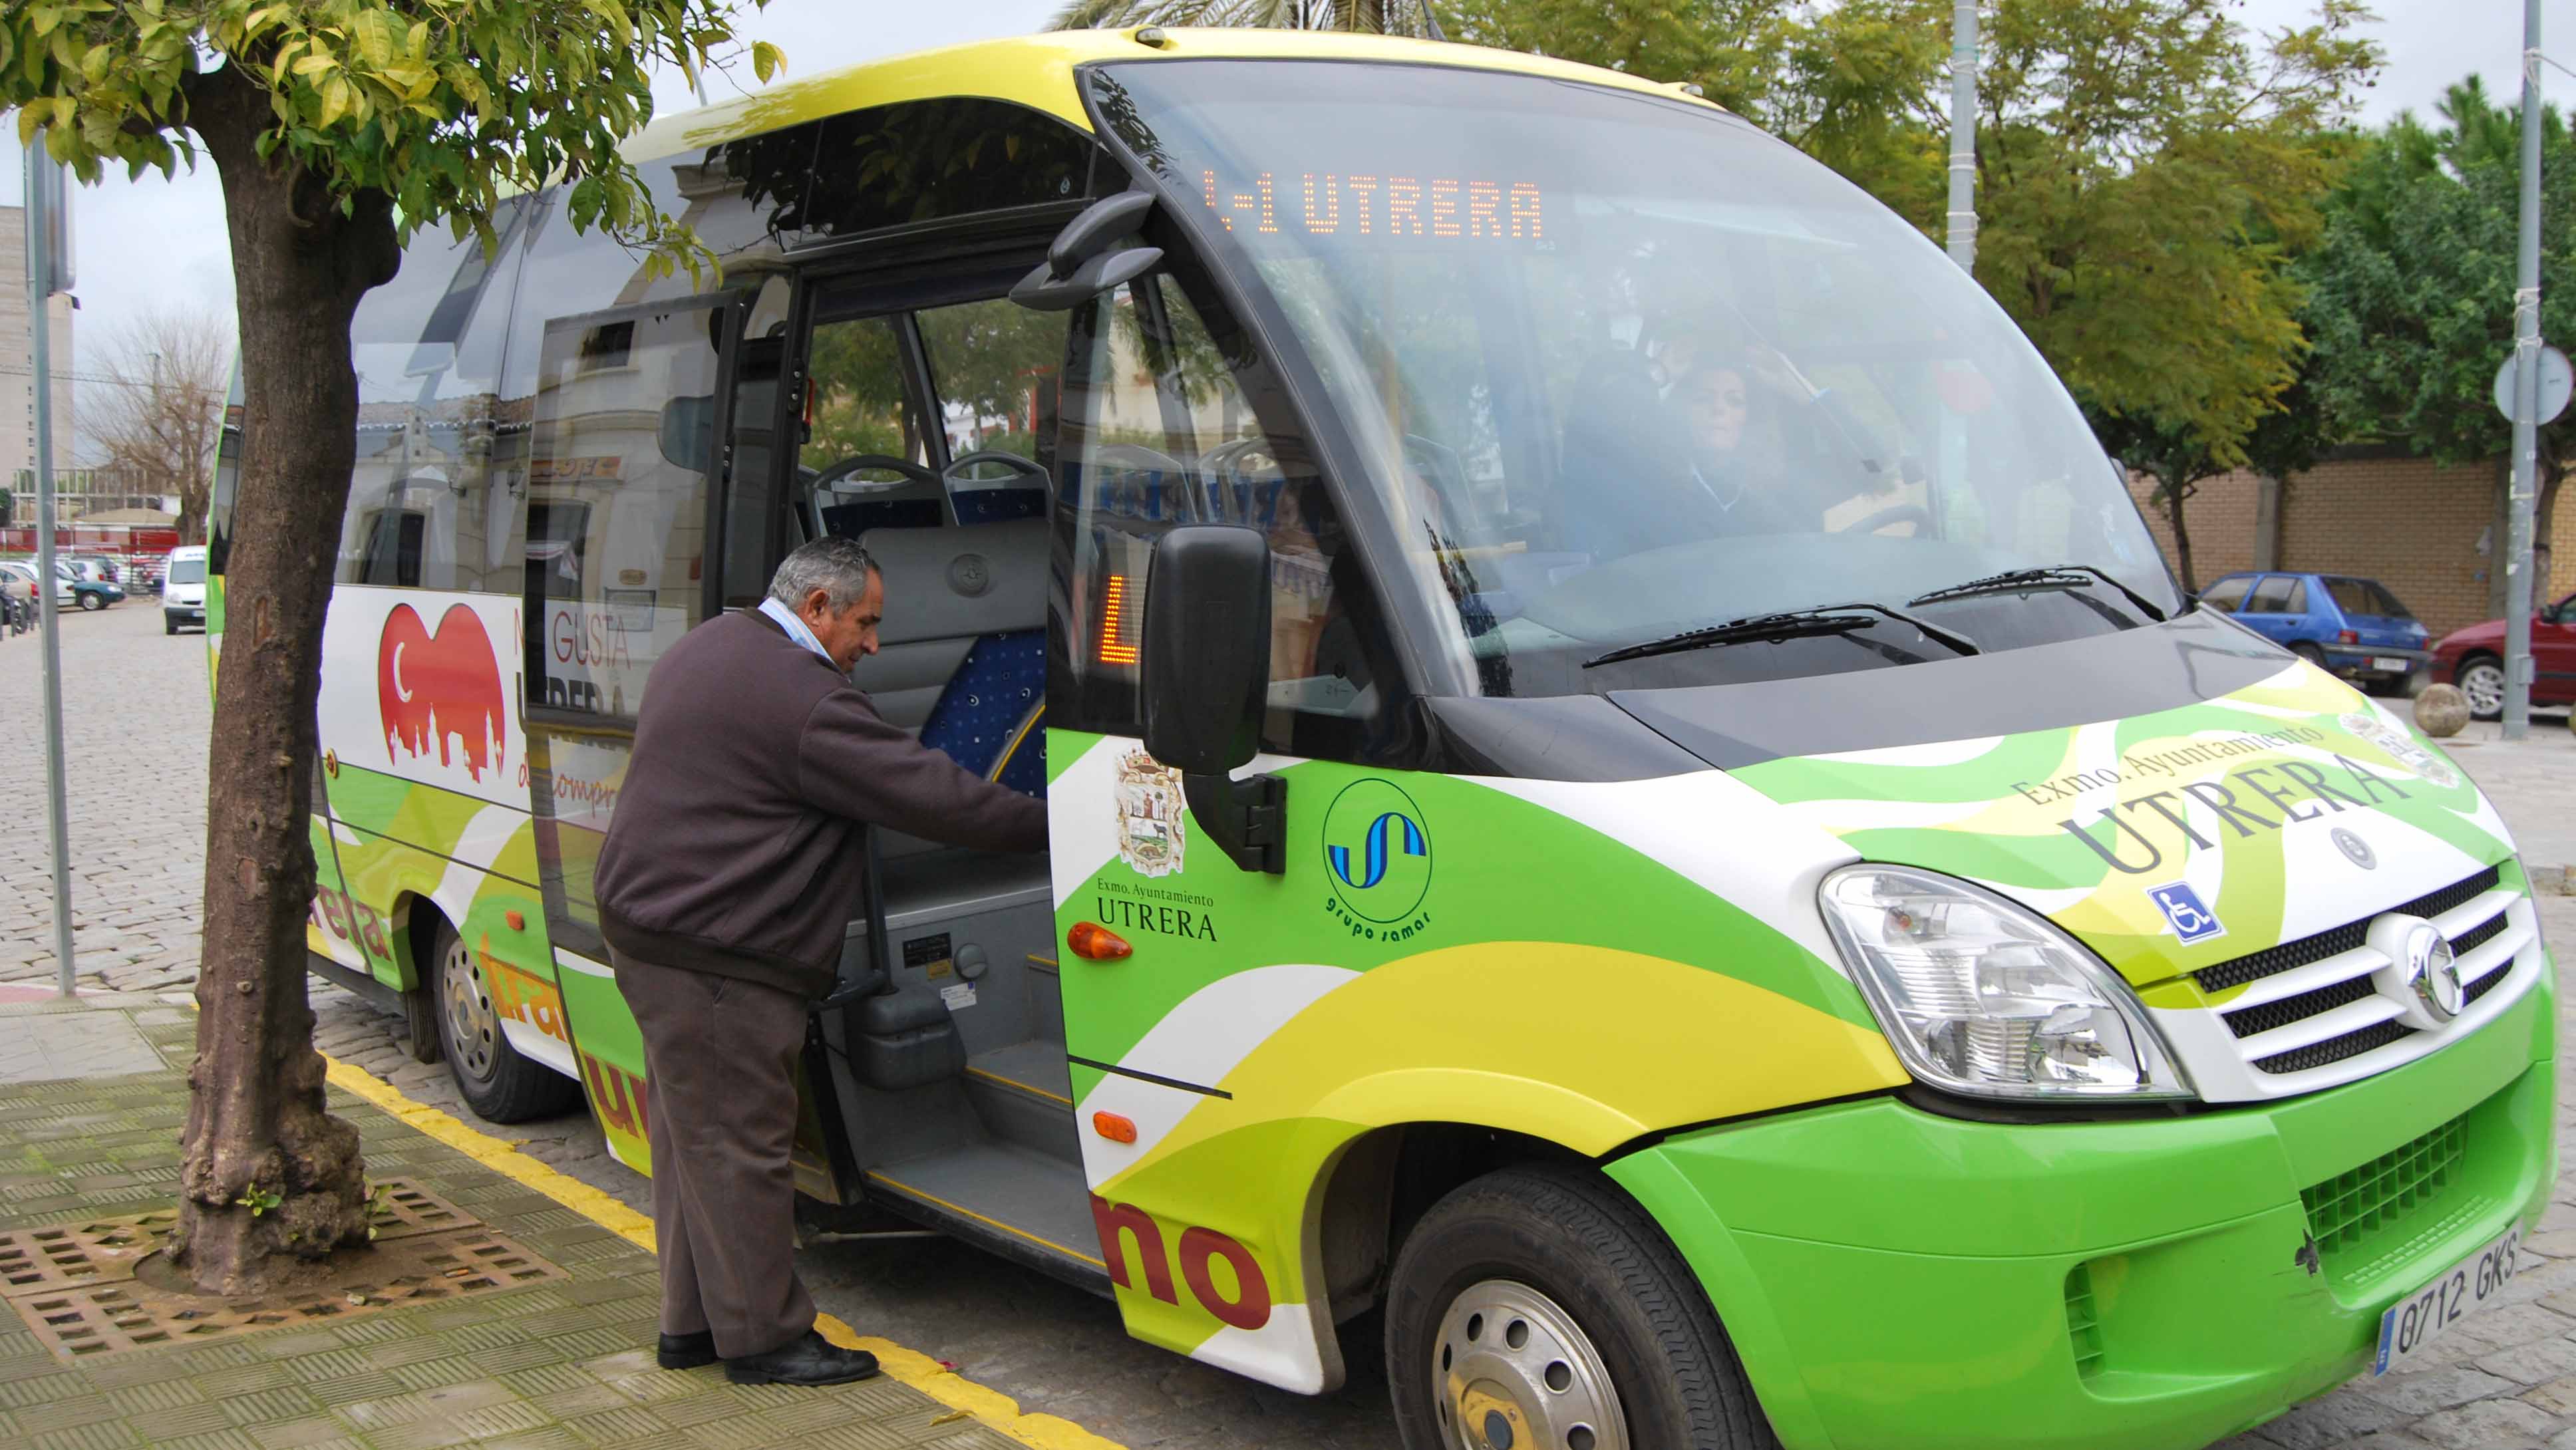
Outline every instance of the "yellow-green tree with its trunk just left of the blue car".
<svg viewBox="0 0 2576 1450">
<path fill-rule="evenodd" d="M 2334 180 L 2334 126 L 2378 67 L 2362 10 L 2269 36 L 2221 0 L 2004 0 L 1978 85 L 1976 276 L 2112 451 L 2156 479 L 2195 582 L 2184 500 L 2208 476 L 2313 461 L 2290 415 L 2308 340 L 2293 258 Z"/>
</svg>

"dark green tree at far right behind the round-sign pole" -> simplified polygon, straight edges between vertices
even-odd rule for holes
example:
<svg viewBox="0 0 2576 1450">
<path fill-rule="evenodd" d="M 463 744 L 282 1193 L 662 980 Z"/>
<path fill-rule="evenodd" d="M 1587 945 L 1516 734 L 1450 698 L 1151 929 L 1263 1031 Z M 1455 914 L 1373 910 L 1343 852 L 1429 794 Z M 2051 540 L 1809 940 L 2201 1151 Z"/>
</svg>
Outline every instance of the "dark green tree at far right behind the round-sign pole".
<svg viewBox="0 0 2576 1450">
<path fill-rule="evenodd" d="M 2514 350 L 2522 131 L 2476 77 L 2450 88 L 2437 116 L 2434 126 L 2398 116 L 2367 139 L 2300 278 L 2316 394 L 2334 428 L 2476 464 L 2514 440 L 2494 381 Z M 2540 276 L 2558 278 L 2576 268 L 2576 139 L 2555 108 L 2543 121 Z M 2540 288 L 2540 335 L 2576 335 L 2576 291 Z M 2540 428 L 2540 579 L 2571 448 L 2576 417 Z M 2501 608 L 2501 569 L 2491 574 Z"/>
</svg>

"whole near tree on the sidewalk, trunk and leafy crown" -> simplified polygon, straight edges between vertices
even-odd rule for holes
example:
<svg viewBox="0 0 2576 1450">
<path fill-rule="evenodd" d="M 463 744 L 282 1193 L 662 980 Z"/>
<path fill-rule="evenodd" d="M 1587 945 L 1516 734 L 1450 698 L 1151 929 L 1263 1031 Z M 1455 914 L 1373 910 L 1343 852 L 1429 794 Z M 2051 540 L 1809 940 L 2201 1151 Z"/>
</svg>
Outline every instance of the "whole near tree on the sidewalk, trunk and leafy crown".
<svg viewBox="0 0 2576 1450">
<path fill-rule="evenodd" d="M 760 5 L 762 0 L 752 0 Z M 214 162 L 247 397 L 206 801 L 198 1053 L 175 1262 L 258 1293 L 366 1244 L 358 1133 L 304 994 L 322 610 L 355 461 L 350 314 L 420 227 L 564 185 L 657 270 L 703 258 L 618 155 L 652 67 L 737 54 L 732 0 L 10 0 L 0 108 L 80 180 Z M 750 46 L 768 77 L 778 52 Z"/>
</svg>

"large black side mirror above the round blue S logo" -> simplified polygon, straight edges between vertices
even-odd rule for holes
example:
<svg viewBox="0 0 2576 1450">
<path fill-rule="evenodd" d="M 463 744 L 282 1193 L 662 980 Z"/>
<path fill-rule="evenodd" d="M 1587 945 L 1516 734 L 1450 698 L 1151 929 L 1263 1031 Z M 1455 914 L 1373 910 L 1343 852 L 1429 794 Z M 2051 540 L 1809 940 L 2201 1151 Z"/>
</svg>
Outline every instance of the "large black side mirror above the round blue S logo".
<svg viewBox="0 0 2576 1450">
<path fill-rule="evenodd" d="M 1270 695 L 1270 541 L 1188 523 L 1154 543 L 1144 595 L 1144 749 L 1180 770 L 1198 827 L 1234 865 L 1288 865 L 1288 783 L 1234 780 Z"/>
</svg>

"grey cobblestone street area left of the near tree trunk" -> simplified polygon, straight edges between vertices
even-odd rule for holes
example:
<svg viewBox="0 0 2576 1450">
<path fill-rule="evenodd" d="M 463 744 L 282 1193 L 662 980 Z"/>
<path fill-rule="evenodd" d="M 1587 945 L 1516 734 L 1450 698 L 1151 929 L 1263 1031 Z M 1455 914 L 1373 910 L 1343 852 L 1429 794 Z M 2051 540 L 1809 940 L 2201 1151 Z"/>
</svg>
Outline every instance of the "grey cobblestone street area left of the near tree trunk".
<svg viewBox="0 0 2576 1450">
<path fill-rule="evenodd" d="M 54 981 L 41 657 L 33 634 L 0 639 L 0 981 Z M 82 986 L 196 981 L 211 713 L 206 636 L 165 636 L 157 595 L 64 610 L 62 749 Z"/>
</svg>

